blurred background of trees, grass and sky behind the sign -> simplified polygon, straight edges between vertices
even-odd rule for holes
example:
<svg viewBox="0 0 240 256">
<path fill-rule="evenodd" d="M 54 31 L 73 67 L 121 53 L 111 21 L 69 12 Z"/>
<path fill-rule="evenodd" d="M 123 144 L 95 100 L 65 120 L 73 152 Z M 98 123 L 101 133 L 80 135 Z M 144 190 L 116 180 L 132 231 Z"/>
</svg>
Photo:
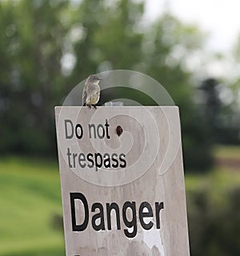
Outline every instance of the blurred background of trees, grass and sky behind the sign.
<svg viewBox="0 0 240 256">
<path fill-rule="evenodd" d="M 116 69 L 156 79 L 180 107 L 191 255 L 240 255 L 239 7 L 0 1 L 0 255 L 65 254 L 54 106 Z"/>
</svg>

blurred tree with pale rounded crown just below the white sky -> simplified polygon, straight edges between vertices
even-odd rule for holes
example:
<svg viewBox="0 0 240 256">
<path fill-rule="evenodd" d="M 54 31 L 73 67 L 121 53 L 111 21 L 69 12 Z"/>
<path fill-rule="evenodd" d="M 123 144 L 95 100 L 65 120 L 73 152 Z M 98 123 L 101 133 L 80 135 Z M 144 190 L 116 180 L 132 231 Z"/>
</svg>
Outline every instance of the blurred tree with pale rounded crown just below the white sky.
<svg viewBox="0 0 240 256">
<path fill-rule="evenodd" d="M 212 141 L 199 106 L 186 62 L 202 46 L 198 27 L 183 24 L 165 13 L 146 33 L 144 72 L 161 82 L 177 106 L 182 122 L 182 146 L 186 170 L 207 170 L 212 164 Z"/>
</svg>

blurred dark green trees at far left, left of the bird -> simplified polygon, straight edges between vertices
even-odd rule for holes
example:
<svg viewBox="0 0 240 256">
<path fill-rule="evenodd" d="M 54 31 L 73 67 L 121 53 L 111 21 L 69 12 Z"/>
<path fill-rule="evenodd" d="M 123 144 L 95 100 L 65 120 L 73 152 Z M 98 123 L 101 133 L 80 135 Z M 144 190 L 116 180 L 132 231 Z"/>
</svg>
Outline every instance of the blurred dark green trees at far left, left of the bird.
<svg viewBox="0 0 240 256">
<path fill-rule="evenodd" d="M 62 97 L 61 23 L 67 2 L 0 2 L 1 151 L 49 154 Z"/>
</svg>

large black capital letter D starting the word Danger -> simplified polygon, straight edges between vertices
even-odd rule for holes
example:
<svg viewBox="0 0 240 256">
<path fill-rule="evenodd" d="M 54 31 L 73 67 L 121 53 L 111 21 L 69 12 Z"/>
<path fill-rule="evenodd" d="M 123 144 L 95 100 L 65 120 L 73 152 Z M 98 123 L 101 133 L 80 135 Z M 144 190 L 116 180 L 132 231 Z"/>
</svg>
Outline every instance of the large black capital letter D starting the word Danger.
<svg viewBox="0 0 240 256">
<path fill-rule="evenodd" d="M 75 200 L 81 200 L 84 206 L 84 221 L 81 225 L 77 225 L 76 212 L 75 212 Z M 89 221 L 89 210 L 86 197 L 82 193 L 70 193 L 70 205 L 71 205 L 71 218 L 72 218 L 72 229 L 73 231 L 86 230 L 86 226 Z"/>
</svg>

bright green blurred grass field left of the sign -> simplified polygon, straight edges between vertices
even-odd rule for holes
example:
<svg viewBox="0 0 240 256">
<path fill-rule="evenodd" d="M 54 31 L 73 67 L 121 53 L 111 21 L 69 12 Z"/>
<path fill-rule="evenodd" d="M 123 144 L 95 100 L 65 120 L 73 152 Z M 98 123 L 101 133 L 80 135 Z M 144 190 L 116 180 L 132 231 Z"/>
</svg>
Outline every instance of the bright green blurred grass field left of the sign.
<svg viewBox="0 0 240 256">
<path fill-rule="evenodd" d="M 0 160 L 0 255 L 64 255 L 54 230 L 62 214 L 58 165 L 39 159 Z"/>
</svg>

